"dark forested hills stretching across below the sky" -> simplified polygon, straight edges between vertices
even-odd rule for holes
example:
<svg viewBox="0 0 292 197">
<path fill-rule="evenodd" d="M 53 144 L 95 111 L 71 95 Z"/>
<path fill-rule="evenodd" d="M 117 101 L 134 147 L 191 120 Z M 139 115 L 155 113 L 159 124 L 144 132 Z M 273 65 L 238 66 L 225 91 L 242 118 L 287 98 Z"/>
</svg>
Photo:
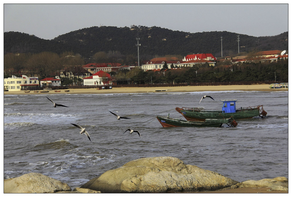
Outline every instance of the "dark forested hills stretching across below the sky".
<svg viewBox="0 0 292 197">
<path fill-rule="evenodd" d="M 4 33 L 4 54 L 40 53 L 51 51 L 62 53 L 72 51 L 83 57 L 91 57 L 99 51 L 119 51 L 122 55 L 137 55 L 137 34 L 140 38 L 141 59 L 154 56 L 212 53 L 221 57 L 221 36 L 223 56 L 239 52 L 262 50 L 288 50 L 288 32 L 277 36 L 254 37 L 232 32 L 189 33 L 173 31 L 161 27 L 89 27 L 60 35 L 52 40 L 44 40 L 34 35 L 20 32 Z"/>
</svg>

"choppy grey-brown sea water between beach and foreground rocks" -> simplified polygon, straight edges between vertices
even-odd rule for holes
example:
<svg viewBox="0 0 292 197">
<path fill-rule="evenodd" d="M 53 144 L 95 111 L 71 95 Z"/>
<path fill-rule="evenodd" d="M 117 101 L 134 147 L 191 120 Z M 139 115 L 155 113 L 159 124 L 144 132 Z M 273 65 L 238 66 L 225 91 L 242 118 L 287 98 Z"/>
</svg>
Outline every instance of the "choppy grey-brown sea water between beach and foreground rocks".
<svg viewBox="0 0 292 197">
<path fill-rule="evenodd" d="M 203 95 L 215 101 L 198 105 Z M 54 108 L 46 96 L 69 107 Z M 220 110 L 223 99 L 237 99 L 237 108 L 263 104 L 268 114 L 237 121 L 236 128 L 163 128 L 148 116 L 173 109 L 161 115 L 183 118 L 175 107 Z M 117 121 L 108 110 L 132 119 Z M 70 123 L 88 127 L 92 142 Z M 123 134 L 129 127 L 141 138 Z M 38 172 L 74 188 L 152 156 L 177 157 L 239 182 L 288 178 L 288 91 L 4 95 L 6 179 Z"/>
</svg>

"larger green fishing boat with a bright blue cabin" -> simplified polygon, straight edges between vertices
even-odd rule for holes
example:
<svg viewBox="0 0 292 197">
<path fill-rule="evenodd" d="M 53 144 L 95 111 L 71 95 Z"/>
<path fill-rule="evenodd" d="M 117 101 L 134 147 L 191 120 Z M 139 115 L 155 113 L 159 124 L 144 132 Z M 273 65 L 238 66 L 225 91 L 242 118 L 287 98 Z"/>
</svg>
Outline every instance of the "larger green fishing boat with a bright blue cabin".
<svg viewBox="0 0 292 197">
<path fill-rule="evenodd" d="M 237 100 L 220 100 L 223 102 L 222 111 L 201 111 L 197 107 L 176 107 L 175 110 L 182 114 L 188 121 L 204 121 L 206 119 L 222 119 L 230 118 L 234 120 L 253 118 L 260 116 L 265 118 L 267 112 L 263 109 L 263 105 L 254 107 L 240 107 L 236 109 L 235 102 Z"/>
</svg>

